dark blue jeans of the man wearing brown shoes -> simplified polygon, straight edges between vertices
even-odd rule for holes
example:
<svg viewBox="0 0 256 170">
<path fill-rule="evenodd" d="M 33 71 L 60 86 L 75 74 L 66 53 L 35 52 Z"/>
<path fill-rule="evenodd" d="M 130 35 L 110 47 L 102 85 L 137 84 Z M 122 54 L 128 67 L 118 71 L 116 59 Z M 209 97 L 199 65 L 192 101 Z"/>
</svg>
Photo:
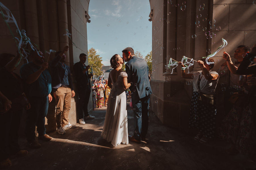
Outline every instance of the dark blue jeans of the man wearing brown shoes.
<svg viewBox="0 0 256 170">
<path fill-rule="evenodd" d="M 28 101 L 31 108 L 27 111 L 25 134 L 28 142 L 35 140 L 36 126 L 38 135 L 46 134 L 45 117 L 47 115 L 49 100 L 46 97 L 31 97 L 28 96 Z"/>
</svg>

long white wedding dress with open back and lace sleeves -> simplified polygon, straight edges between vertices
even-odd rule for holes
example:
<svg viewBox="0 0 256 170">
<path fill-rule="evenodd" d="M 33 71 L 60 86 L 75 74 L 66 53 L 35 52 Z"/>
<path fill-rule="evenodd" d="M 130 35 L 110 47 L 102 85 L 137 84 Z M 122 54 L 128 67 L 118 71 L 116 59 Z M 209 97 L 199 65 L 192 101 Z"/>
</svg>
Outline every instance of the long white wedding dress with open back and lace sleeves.
<svg viewBox="0 0 256 170">
<path fill-rule="evenodd" d="M 127 77 L 127 73 L 121 72 L 117 82 L 113 82 L 111 72 L 109 75 L 112 80 L 112 89 L 101 137 L 108 142 L 111 141 L 113 146 L 118 146 L 121 143 L 128 145 L 126 94 L 122 83 L 123 77 Z"/>
</svg>

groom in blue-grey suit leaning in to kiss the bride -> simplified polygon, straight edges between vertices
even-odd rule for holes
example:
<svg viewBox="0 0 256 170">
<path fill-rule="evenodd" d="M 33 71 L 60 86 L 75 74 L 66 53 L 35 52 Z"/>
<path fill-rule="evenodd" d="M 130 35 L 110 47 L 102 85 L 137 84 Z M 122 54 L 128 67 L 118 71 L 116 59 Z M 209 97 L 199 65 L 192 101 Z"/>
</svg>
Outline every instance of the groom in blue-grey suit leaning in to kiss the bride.
<svg viewBox="0 0 256 170">
<path fill-rule="evenodd" d="M 149 70 L 146 61 L 135 56 L 131 47 L 125 48 L 123 51 L 123 59 L 125 62 L 125 71 L 128 75 L 131 98 L 134 113 L 134 133 L 129 135 L 129 139 L 135 143 L 145 141 L 148 131 L 148 109 L 149 95 L 152 94 L 149 84 Z"/>
</svg>

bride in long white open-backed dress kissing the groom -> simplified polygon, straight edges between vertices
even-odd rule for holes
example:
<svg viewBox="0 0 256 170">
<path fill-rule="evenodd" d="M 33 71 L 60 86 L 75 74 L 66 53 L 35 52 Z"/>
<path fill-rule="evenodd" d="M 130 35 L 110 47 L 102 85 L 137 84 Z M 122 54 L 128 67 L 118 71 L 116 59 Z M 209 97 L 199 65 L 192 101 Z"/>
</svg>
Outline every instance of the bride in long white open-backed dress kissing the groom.
<svg viewBox="0 0 256 170">
<path fill-rule="evenodd" d="M 118 54 L 110 59 L 113 70 L 109 73 L 108 86 L 111 91 L 101 137 L 108 142 L 111 141 L 113 146 L 128 144 L 125 90 L 131 84 L 127 83 L 127 73 L 122 71 L 123 63 L 123 59 Z"/>
</svg>

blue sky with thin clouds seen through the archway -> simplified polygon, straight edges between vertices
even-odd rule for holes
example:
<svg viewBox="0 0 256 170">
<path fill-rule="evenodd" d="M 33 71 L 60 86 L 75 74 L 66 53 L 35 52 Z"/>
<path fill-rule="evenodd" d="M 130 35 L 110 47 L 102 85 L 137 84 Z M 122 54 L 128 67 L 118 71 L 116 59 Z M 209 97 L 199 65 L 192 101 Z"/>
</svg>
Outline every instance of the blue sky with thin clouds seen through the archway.
<svg viewBox="0 0 256 170">
<path fill-rule="evenodd" d="M 152 22 L 148 0 L 91 0 L 87 23 L 88 49 L 96 49 L 102 64 L 128 46 L 143 56 L 152 50 Z"/>
</svg>

